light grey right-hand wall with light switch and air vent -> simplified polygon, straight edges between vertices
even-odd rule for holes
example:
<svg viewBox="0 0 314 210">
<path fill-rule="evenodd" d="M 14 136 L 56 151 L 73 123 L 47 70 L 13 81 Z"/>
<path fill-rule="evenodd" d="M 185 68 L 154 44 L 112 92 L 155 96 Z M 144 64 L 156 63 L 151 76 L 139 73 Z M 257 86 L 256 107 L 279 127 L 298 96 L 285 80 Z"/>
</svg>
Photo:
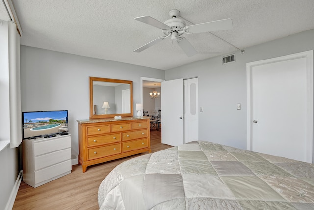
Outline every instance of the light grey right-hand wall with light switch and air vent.
<svg viewBox="0 0 314 210">
<path fill-rule="evenodd" d="M 222 57 L 201 60 L 166 71 L 166 80 L 198 77 L 199 139 L 246 149 L 246 63 L 314 49 L 314 30 L 235 52 L 234 63 Z M 242 109 L 237 110 L 236 104 Z"/>
</svg>

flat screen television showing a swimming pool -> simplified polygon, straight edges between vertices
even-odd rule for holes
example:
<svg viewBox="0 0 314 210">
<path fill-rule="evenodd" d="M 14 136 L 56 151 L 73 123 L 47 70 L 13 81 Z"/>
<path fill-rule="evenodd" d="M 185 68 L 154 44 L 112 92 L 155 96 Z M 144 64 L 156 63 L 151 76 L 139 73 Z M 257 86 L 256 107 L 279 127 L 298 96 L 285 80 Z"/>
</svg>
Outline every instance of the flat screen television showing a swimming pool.
<svg viewBox="0 0 314 210">
<path fill-rule="evenodd" d="M 23 139 L 69 132 L 68 110 L 22 112 Z"/>
</svg>

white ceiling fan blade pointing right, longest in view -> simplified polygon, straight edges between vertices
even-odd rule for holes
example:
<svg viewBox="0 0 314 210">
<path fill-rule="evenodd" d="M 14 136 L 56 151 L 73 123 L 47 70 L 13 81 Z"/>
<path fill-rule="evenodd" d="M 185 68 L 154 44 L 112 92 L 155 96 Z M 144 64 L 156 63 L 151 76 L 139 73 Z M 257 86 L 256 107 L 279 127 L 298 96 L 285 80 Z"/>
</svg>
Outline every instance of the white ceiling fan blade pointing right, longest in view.
<svg viewBox="0 0 314 210">
<path fill-rule="evenodd" d="M 202 33 L 229 29 L 232 29 L 232 20 L 230 18 L 186 26 L 183 30 L 187 30 L 185 33 Z"/>
</svg>

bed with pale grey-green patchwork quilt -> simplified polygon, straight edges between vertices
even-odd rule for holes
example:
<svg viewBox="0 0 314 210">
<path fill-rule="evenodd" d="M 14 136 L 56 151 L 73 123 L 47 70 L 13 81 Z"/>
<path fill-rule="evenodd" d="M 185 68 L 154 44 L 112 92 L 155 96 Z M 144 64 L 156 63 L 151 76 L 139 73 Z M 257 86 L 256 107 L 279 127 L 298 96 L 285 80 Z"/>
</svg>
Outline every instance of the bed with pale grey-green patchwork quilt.
<svg viewBox="0 0 314 210">
<path fill-rule="evenodd" d="M 125 161 L 101 210 L 314 210 L 314 165 L 206 141 Z"/>
</svg>

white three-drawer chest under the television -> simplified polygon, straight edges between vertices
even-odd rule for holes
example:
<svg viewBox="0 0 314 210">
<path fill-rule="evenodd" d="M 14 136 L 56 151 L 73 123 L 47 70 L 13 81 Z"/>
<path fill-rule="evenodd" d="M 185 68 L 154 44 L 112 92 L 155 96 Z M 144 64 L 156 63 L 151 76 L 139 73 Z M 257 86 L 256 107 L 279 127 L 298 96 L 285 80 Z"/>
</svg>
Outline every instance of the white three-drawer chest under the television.
<svg viewBox="0 0 314 210">
<path fill-rule="evenodd" d="M 71 173 L 71 136 L 26 139 L 22 143 L 23 181 L 38 187 Z"/>
</svg>

